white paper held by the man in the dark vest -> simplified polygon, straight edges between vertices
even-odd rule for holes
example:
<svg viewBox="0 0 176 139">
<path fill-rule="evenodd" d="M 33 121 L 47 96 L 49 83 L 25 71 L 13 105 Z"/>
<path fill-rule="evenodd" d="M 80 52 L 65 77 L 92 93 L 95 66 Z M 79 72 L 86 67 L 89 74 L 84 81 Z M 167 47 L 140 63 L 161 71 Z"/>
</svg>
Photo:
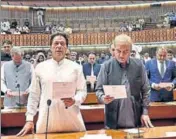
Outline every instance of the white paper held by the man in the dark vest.
<svg viewBox="0 0 176 139">
<path fill-rule="evenodd" d="M 127 98 L 125 85 L 103 85 L 105 95 L 115 99 Z"/>
</svg>

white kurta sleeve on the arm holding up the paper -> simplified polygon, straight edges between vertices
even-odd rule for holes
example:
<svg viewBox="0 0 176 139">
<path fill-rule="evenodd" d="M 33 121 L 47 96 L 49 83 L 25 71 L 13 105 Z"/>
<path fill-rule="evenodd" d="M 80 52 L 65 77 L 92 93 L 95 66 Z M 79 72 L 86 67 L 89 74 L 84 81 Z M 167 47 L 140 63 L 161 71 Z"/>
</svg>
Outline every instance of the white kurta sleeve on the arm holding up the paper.
<svg viewBox="0 0 176 139">
<path fill-rule="evenodd" d="M 87 96 L 86 80 L 84 78 L 82 68 L 78 68 L 76 85 L 77 85 L 77 89 L 76 89 L 76 95 L 74 99 L 75 99 L 75 105 L 79 106 L 81 105 L 81 103 L 84 102 Z"/>
</svg>

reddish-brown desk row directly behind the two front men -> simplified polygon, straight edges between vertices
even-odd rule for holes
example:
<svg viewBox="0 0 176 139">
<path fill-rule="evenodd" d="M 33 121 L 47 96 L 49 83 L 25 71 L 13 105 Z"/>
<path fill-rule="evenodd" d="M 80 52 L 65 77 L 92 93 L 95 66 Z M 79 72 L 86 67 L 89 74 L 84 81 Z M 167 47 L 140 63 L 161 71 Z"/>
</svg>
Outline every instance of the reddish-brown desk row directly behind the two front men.
<svg viewBox="0 0 176 139">
<path fill-rule="evenodd" d="M 80 109 L 86 125 L 104 123 L 104 105 L 82 105 Z M 23 126 L 25 123 L 25 112 L 25 109 L 18 109 L 10 112 L 2 110 L 2 128 Z M 149 107 L 149 116 L 155 126 L 175 125 L 176 102 L 151 103 Z"/>
</svg>

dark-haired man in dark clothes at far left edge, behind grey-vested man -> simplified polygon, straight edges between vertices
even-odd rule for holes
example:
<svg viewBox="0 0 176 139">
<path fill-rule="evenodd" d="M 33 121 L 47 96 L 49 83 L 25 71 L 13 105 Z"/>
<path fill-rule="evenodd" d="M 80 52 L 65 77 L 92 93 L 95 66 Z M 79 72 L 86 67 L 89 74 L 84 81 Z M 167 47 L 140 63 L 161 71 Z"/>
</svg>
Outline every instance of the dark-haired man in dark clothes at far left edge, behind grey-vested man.
<svg viewBox="0 0 176 139">
<path fill-rule="evenodd" d="M 4 40 L 2 42 L 3 51 L 1 52 L 1 61 L 12 60 L 10 50 L 12 49 L 12 42 L 10 40 Z"/>
</svg>

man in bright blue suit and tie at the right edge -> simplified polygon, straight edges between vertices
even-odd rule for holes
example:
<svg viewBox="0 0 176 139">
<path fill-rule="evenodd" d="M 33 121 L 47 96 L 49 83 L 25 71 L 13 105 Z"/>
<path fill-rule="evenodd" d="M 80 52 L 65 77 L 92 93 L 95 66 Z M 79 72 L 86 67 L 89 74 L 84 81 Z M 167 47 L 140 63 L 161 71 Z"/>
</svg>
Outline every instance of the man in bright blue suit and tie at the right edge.
<svg viewBox="0 0 176 139">
<path fill-rule="evenodd" d="M 156 51 L 156 58 L 147 61 L 145 64 L 151 85 L 151 101 L 173 100 L 173 88 L 176 85 L 176 67 L 174 61 L 166 60 L 166 58 L 167 49 L 159 47 Z M 167 84 L 163 85 L 163 83 Z"/>
</svg>

